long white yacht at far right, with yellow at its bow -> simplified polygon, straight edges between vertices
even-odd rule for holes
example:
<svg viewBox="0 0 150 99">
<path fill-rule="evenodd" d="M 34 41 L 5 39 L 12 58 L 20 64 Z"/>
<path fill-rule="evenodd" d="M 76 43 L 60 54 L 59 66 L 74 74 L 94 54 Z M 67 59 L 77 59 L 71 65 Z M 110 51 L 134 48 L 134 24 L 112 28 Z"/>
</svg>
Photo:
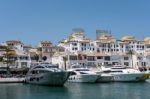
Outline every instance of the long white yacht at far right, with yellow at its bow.
<svg viewBox="0 0 150 99">
<path fill-rule="evenodd" d="M 133 68 L 126 68 L 121 65 L 114 65 L 111 67 L 101 67 L 101 78 L 99 82 L 105 81 L 110 77 L 110 81 L 118 82 L 130 82 L 130 81 L 145 81 L 148 77 L 146 73 L 142 73 L 139 70 Z M 109 81 L 108 80 L 108 81 Z"/>
</svg>

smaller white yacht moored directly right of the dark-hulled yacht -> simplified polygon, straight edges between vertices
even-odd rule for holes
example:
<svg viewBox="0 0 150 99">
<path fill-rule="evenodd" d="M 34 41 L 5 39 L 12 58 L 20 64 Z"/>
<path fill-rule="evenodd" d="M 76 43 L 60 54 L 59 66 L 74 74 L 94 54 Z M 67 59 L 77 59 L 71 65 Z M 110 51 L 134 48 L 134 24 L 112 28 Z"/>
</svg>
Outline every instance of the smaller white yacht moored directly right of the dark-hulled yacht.
<svg viewBox="0 0 150 99">
<path fill-rule="evenodd" d="M 72 72 L 69 82 L 94 83 L 99 78 L 98 74 L 80 65 L 74 65 L 68 71 Z"/>
</svg>

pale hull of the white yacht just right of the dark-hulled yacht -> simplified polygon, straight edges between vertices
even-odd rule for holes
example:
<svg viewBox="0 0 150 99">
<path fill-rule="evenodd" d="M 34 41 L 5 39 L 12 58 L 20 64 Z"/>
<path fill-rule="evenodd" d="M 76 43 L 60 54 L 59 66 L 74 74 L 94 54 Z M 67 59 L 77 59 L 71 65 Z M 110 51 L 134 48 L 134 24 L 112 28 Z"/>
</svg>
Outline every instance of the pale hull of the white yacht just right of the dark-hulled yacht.
<svg viewBox="0 0 150 99">
<path fill-rule="evenodd" d="M 96 74 L 72 75 L 69 77 L 68 82 L 94 83 L 98 78 L 99 75 Z"/>
</svg>

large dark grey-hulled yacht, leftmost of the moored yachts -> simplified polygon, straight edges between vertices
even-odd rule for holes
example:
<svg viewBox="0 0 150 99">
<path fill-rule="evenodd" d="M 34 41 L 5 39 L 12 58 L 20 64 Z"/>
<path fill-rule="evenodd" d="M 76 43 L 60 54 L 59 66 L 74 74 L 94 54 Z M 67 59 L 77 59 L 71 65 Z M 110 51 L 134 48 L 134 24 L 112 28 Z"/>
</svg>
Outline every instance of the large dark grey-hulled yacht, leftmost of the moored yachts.
<svg viewBox="0 0 150 99">
<path fill-rule="evenodd" d="M 70 74 L 59 69 L 58 65 L 40 63 L 30 68 L 25 80 L 31 84 L 63 86 Z"/>
</svg>

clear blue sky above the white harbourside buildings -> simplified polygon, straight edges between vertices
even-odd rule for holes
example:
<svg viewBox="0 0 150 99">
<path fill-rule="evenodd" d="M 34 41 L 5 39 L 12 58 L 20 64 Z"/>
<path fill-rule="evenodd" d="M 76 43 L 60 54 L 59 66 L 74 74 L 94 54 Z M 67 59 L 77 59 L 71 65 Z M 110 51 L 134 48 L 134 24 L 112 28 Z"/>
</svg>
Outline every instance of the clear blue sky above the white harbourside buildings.
<svg viewBox="0 0 150 99">
<path fill-rule="evenodd" d="M 96 38 L 108 29 L 117 39 L 150 36 L 150 0 L 0 0 L 0 42 L 41 40 L 57 44 L 73 28 Z"/>
</svg>

